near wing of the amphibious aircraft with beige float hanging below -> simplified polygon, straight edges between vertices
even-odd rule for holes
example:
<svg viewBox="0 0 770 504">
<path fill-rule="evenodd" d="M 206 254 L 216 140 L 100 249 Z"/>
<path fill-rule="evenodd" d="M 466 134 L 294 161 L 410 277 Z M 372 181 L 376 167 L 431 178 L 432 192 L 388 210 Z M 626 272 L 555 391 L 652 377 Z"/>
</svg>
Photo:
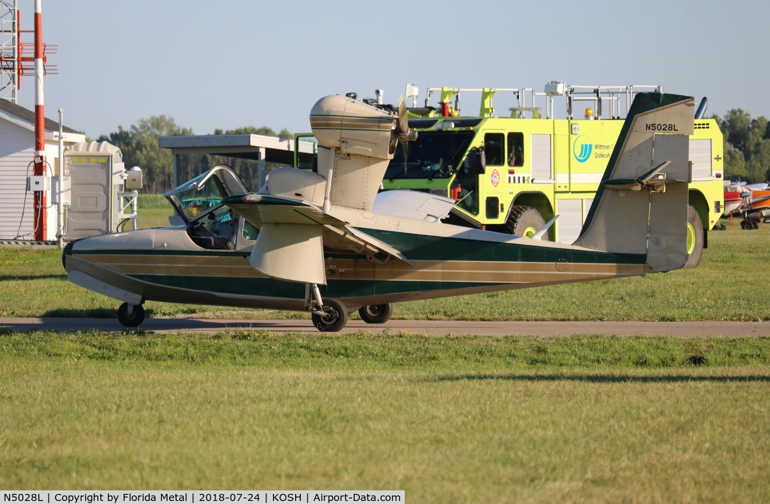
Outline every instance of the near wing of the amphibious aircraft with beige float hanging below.
<svg viewBox="0 0 770 504">
<path fill-rule="evenodd" d="M 315 205 L 280 196 L 229 196 L 224 205 L 260 229 L 249 261 L 260 272 L 303 283 L 326 283 L 323 251 L 365 254 L 374 262 L 409 260 Z"/>
</svg>

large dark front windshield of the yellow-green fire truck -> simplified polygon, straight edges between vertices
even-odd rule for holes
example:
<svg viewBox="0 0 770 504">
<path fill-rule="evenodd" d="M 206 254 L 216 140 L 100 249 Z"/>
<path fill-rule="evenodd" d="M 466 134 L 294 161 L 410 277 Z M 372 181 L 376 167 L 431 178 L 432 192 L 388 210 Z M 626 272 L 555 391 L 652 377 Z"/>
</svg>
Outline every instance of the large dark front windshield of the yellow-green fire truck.
<svg viewBox="0 0 770 504">
<path fill-rule="evenodd" d="M 420 132 L 407 144 L 404 170 L 403 149 L 399 146 L 387 167 L 384 179 L 443 179 L 457 169 L 474 139 L 474 132 Z"/>
</svg>

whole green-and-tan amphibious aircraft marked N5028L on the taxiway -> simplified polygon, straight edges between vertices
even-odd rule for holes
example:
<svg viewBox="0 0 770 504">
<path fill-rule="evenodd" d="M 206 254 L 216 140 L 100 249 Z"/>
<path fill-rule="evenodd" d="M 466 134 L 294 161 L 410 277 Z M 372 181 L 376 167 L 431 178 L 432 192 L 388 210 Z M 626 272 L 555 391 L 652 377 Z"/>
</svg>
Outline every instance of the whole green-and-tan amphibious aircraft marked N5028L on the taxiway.
<svg viewBox="0 0 770 504">
<path fill-rule="evenodd" d="M 317 172 L 273 170 L 249 193 L 224 165 L 166 194 L 183 225 L 71 242 L 69 280 L 122 301 L 133 327 L 147 300 L 305 310 L 321 331 L 348 313 L 387 322 L 394 302 L 646 275 L 687 259 L 688 136 L 695 100 L 634 99 L 580 237 L 571 245 L 441 222 L 456 202 L 380 192 L 407 110 L 343 96 L 310 112 Z M 651 131 L 648 124 L 675 124 Z M 483 171 L 484 152 L 471 145 Z M 231 212 L 232 211 L 232 212 Z"/>
</svg>

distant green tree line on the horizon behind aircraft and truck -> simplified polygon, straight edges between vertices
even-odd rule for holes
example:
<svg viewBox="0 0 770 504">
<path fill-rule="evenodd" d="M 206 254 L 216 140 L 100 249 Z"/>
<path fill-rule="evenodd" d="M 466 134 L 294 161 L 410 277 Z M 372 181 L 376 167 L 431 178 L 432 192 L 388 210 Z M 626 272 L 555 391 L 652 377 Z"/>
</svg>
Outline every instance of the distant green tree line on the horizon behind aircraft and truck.
<svg viewBox="0 0 770 504">
<path fill-rule="evenodd" d="M 750 183 L 770 180 L 770 122 L 764 116 L 752 118 L 742 108 L 733 108 L 722 118 L 718 115 L 713 115 L 712 118 L 716 120 L 724 135 L 725 179 L 740 179 Z M 283 139 L 293 137 L 286 129 L 276 134 L 267 126 L 214 130 L 214 135 L 244 133 L 278 136 Z M 157 194 L 169 191 L 173 185 L 171 151 L 161 149 L 158 146 L 158 138 L 192 134 L 192 129 L 177 125 L 173 118 L 153 115 L 151 118 L 139 119 L 139 122 L 129 129 L 119 126 L 118 131 L 102 135 L 98 140 L 118 147 L 126 167 L 139 166 L 144 176 L 145 191 Z M 222 163 L 231 165 L 246 183 L 246 187 L 256 191 L 256 161 L 216 155 L 183 156 L 179 163 L 178 182 L 192 179 Z M 270 163 L 267 165 L 268 170 L 272 168 Z"/>
</svg>

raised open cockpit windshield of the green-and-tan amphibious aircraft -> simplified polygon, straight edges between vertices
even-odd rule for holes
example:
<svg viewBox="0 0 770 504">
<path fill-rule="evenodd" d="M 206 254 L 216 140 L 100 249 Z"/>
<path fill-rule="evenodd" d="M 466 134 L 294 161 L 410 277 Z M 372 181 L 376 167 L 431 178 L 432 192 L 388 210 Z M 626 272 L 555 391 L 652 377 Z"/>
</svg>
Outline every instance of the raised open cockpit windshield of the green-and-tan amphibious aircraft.
<svg viewBox="0 0 770 504">
<path fill-rule="evenodd" d="M 238 175 L 229 167 L 220 165 L 166 192 L 166 199 L 182 219 L 189 223 L 216 212 L 222 206 L 224 197 L 246 192 Z"/>
</svg>

